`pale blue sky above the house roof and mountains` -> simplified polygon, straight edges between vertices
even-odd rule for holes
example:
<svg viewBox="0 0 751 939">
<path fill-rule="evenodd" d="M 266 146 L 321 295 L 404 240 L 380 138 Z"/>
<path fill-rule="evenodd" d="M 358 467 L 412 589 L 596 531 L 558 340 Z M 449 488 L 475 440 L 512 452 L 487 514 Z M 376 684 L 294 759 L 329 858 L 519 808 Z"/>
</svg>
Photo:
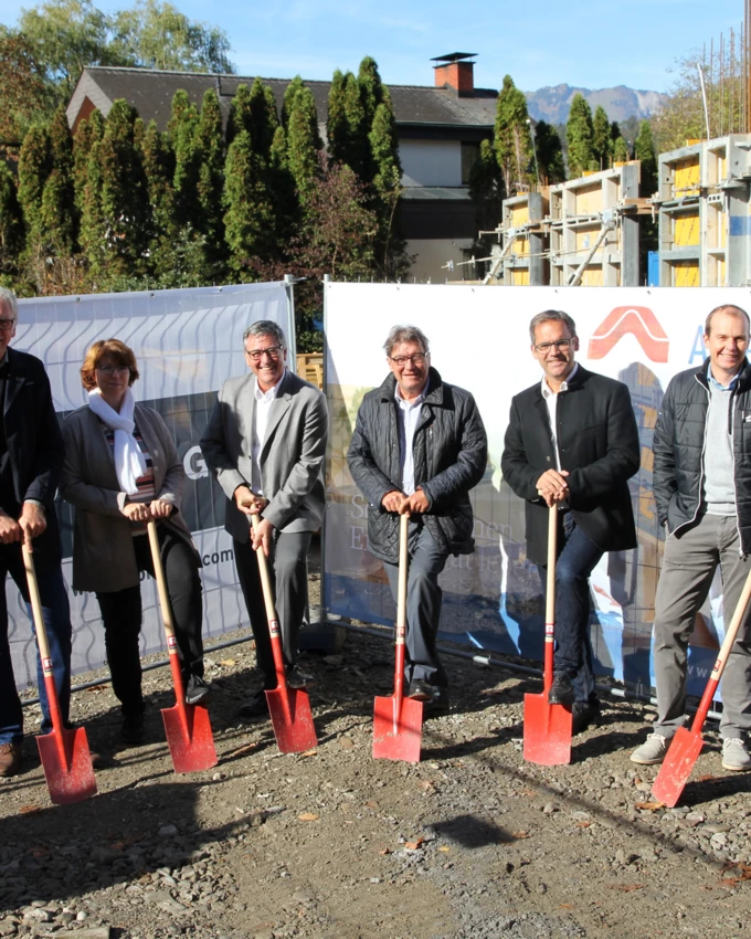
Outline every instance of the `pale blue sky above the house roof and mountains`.
<svg viewBox="0 0 751 939">
<path fill-rule="evenodd" d="M 243 75 L 330 78 L 372 55 L 392 84 L 433 82 L 430 60 L 476 52 L 475 84 L 497 88 L 509 73 L 535 91 L 567 83 L 588 88 L 628 85 L 664 92 L 677 57 L 729 36 L 743 0 L 537 0 L 463 3 L 444 0 L 172 0 L 192 19 L 221 27 Z M 22 7 L 0 0 L 0 22 L 15 24 Z M 128 0 L 99 0 L 106 12 Z M 526 15 L 529 10 L 530 17 Z"/>
</svg>

